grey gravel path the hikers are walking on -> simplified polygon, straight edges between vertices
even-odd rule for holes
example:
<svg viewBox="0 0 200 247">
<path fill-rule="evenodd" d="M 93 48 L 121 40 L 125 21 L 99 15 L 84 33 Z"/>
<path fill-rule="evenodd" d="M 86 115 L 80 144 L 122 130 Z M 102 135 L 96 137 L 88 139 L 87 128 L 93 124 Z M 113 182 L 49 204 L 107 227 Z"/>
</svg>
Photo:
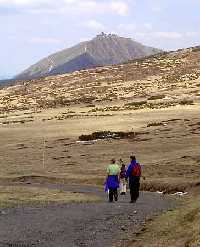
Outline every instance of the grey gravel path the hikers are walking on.
<svg viewBox="0 0 200 247">
<path fill-rule="evenodd" d="M 174 206 L 170 198 L 155 193 L 141 193 L 136 204 L 128 203 L 128 195 L 120 196 L 117 203 L 108 203 L 98 188 L 42 186 L 93 193 L 105 201 L 4 209 L 0 211 L 0 247 L 110 247 L 114 243 L 125 246 L 128 236 L 147 217 Z"/>
</svg>

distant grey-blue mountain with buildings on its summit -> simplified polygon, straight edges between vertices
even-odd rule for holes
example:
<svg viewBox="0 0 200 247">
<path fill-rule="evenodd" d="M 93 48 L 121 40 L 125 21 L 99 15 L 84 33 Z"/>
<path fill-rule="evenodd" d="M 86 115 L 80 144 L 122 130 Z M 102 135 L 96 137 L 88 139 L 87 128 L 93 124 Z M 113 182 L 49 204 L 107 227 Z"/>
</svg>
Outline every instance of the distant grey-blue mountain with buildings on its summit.
<svg viewBox="0 0 200 247">
<path fill-rule="evenodd" d="M 32 79 L 112 65 L 161 52 L 129 38 L 100 34 L 94 39 L 54 53 L 32 65 L 15 79 Z"/>
</svg>

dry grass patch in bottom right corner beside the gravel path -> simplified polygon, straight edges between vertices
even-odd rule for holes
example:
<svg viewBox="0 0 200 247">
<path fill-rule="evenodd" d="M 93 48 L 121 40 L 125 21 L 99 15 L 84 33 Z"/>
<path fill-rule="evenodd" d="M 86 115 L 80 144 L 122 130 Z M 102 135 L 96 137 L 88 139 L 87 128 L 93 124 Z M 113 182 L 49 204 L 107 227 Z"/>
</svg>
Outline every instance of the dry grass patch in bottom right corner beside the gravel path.
<svg viewBox="0 0 200 247">
<path fill-rule="evenodd" d="M 150 221 L 129 247 L 199 247 L 200 196 Z"/>
</svg>

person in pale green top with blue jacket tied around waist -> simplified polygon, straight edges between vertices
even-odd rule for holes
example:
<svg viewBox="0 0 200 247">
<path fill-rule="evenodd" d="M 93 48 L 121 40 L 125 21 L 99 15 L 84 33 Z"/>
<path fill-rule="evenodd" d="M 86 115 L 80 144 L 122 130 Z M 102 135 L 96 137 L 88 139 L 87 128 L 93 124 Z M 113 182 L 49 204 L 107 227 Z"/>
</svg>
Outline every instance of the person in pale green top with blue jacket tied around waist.
<svg viewBox="0 0 200 247">
<path fill-rule="evenodd" d="M 120 168 L 116 164 L 116 160 L 112 159 L 111 164 L 107 168 L 106 188 L 109 190 L 109 202 L 118 200 L 118 188 L 119 188 L 119 173 Z"/>
</svg>

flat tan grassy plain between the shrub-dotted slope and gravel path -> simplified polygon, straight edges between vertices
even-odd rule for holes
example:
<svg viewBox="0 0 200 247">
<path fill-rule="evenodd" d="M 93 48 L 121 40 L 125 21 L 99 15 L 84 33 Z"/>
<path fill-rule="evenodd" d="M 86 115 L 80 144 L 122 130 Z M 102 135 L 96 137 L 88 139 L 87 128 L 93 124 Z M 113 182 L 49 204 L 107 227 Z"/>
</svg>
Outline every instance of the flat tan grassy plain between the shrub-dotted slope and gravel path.
<svg viewBox="0 0 200 247">
<path fill-rule="evenodd" d="M 58 111 L 63 109 L 37 114 L 31 123 L 0 127 L 1 179 L 102 185 L 111 158 L 128 164 L 130 154 L 135 154 L 143 164 L 146 185 L 199 181 L 199 105 L 122 112 L 98 120 L 42 121 L 44 114 L 50 117 Z M 77 142 L 81 134 L 97 130 L 138 134 L 127 140 Z"/>
</svg>

